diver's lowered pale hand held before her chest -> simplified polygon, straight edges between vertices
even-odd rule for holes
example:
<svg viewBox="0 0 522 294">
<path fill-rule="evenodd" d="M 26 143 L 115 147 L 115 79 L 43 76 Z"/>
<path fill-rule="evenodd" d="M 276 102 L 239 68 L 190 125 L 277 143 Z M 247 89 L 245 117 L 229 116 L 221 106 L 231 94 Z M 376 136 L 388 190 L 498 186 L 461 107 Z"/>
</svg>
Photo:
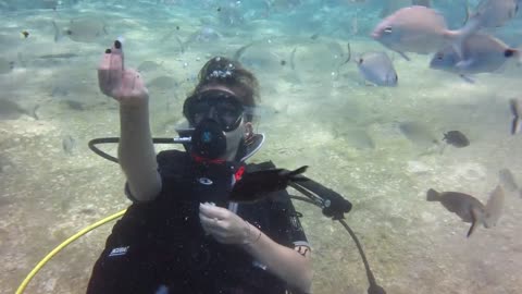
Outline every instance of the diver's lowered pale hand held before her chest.
<svg viewBox="0 0 522 294">
<path fill-rule="evenodd" d="M 257 228 L 231 210 L 210 204 L 199 205 L 199 219 L 203 230 L 223 244 L 247 244 Z"/>
</svg>

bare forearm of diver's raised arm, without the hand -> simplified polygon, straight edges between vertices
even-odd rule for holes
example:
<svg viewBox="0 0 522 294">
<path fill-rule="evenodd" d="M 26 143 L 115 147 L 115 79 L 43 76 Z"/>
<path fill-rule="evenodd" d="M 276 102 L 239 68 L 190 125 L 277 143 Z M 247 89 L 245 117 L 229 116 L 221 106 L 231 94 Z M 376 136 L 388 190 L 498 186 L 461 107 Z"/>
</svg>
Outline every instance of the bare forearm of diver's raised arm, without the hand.
<svg viewBox="0 0 522 294">
<path fill-rule="evenodd" d="M 117 157 L 128 188 L 138 201 L 152 200 L 161 191 L 156 151 L 149 125 L 148 96 L 139 103 L 120 103 Z"/>
</svg>

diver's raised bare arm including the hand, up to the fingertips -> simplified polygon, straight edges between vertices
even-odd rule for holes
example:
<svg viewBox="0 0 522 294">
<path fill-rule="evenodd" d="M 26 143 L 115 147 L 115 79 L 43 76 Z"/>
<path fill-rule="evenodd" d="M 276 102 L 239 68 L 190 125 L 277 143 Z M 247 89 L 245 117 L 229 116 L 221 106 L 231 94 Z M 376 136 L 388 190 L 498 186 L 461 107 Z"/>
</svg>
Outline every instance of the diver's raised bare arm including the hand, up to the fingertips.
<svg viewBox="0 0 522 294">
<path fill-rule="evenodd" d="M 100 90 L 120 102 L 120 166 L 138 201 L 153 199 L 161 191 L 149 126 L 149 93 L 141 75 L 124 66 L 122 42 L 115 40 L 98 65 Z"/>
</svg>

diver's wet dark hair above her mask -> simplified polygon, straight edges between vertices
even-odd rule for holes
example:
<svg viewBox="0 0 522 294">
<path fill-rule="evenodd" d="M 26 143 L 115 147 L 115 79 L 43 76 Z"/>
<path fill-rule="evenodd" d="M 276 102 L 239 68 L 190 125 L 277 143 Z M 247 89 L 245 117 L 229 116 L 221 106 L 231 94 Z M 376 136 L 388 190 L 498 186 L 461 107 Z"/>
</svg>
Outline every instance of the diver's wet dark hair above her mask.
<svg viewBox="0 0 522 294">
<path fill-rule="evenodd" d="M 199 71 L 198 79 L 198 85 L 189 97 L 197 95 L 207 86 L 223 85 L 234 91 L 245 107 L 253 109 L 256 101 L 260 101 L 258 79 L 238 61 L 214 57 Z M 252 113 L 248 112 L 246 119 L 251 122 Z"/>
</svg>

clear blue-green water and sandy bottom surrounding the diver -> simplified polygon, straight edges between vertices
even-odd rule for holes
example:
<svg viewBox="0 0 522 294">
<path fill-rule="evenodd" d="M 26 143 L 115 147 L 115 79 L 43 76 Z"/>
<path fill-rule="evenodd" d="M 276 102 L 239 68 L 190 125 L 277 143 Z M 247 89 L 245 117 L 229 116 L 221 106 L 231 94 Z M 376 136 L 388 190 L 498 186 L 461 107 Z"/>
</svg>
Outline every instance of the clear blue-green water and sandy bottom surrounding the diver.
<svg viewBox="0 0 522 294">
<path fill-rule="evenodd" d="M 426 192 L 485 204 L 502 184 L 500 170 L 522 183 L 522 134 L 510 133 L 509 107 L 522 98 L 522 68 L 510 63 L 469 83 L 430 69 L 431 54 L 405 60 L 370 37 L 383 9 L 405 2 L 0 0 L 0 293 L 14 293 L 52 248 L 130 204 L 120 167 L 87 146 L 119 136 L 119 106 L 99 90 L 96 72 L 116 38 L 125 65 L 149 89 L 156 137 L 176 135 L 183 101 L 209 58 L 253 42 L 239 56 L 261 85 L 256 131 L 266 143 L 252 161 L 307 164 L 309 177 L 351 201 L 346 222 L 387 293 L 520 293 L 520 191 L 505 188 L 498 223 L 470 237 L 470 223 L 426 201 Z M 465 17 L 463 1 L 432 2 L 451 28 Z M 517 48 L 521 17 L 487 33 Z M 387 52 L 396 87 L 364 82 L 353 61 L 369 51 Z M 470 145 L 443 142 L 452 130 Z M 115 155 L 117 146 L 103 150 Z M 294 204 L 312 245 L 312 293 L 366 293 L 348 233 L 319 208 Z M 25 293 L 85 293 L 111 228 L 61 250 Z"/>
</svg>

